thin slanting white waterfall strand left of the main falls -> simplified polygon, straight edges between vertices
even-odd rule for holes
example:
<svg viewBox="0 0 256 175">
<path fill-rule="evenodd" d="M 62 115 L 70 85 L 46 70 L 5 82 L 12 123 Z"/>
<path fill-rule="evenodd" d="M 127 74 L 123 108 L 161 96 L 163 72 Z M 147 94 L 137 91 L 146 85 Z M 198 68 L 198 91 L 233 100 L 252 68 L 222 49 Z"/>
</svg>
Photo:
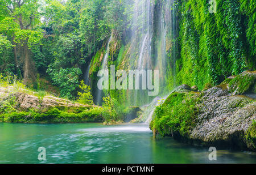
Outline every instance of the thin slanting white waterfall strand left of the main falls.
<svg viewBox="0 0 256 175">
<path fill-rule="evenodd" d="M 108 58 L 109 58 L 109 44 L 112 41 L 112 35 L 109 37 L 108 43 L 107 43 L 107 48 L 105 52 L 105 56 L 103 58 L 102 64 L 101 64 L 101 69 L 108 69 Z M 97 93 L 96 93 L 96 104 L 101 105 L 102 103 L 102 94 L 103 91 L 97 88 Z"/>
</svg>

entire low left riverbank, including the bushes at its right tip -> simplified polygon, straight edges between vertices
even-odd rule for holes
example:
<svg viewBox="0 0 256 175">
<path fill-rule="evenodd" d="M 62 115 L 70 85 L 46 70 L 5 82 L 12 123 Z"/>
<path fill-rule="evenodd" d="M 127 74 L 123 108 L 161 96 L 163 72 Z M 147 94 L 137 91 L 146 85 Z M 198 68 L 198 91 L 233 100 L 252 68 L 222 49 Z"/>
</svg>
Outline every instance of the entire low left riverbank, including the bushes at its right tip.
<svg viewBox="0 0 256 175">
<path fill-rule="evenodd" d="M 24 88 L 22 83 L 8 82 L 0 86 L 0 122 L 15 123 L 86 123 L 102 122 L 116 125 L 137 117 L 138 106 L 117 108 L 110 99 L 109 105 L 81 104 Z M 122 110 L 121 110 L 122 109 Z"/>
</svg>

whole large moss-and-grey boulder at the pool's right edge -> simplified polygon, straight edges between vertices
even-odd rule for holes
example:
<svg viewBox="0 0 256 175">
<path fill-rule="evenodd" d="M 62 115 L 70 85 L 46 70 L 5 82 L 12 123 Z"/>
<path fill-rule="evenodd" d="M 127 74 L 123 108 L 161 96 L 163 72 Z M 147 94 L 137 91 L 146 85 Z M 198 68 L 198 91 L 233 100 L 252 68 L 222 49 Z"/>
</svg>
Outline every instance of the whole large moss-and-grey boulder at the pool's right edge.
<svg viewBox="0 0 256 175">
<path fill-rule="evenodd" d="M 193 144 L 255 151 L 256 100 L 247 96 L 255 75 L 245 71 L 204 92 L 180 87 L 156 108 L 151 129 Z"/>
</svg>

